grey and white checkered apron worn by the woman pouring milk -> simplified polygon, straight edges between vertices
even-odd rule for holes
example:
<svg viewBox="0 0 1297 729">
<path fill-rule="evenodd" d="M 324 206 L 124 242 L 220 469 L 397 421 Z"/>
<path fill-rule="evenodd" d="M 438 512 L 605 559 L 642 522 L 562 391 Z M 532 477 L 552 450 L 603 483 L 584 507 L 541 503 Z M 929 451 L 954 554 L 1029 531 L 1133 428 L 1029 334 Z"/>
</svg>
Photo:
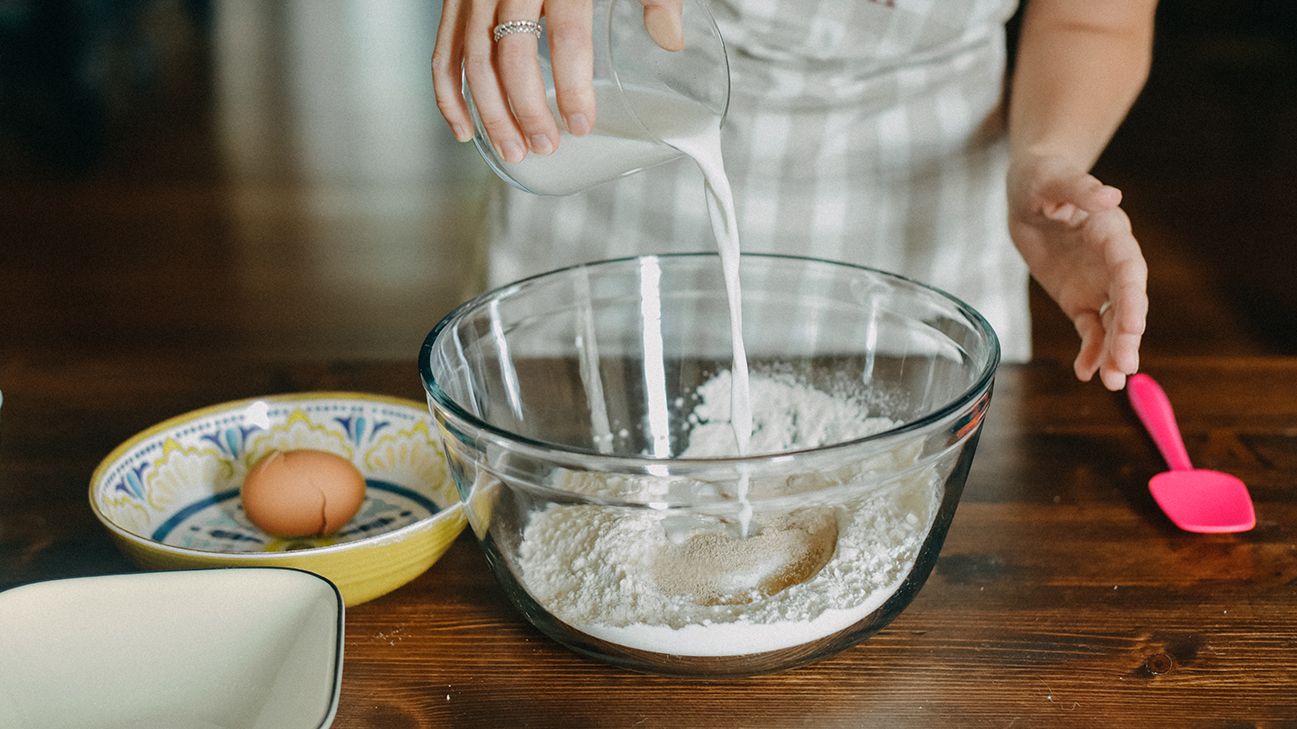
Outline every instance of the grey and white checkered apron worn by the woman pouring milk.
<svg viewBox="0 0 1297 729">
<path fill-rule="evenodd" d="M 1031 354 L 1005 222 L 1004 22 L 1016 0 L 712 0 L 730 58 L 722 127 L 744 252 L 848 261 L 946 289 Z M 713 248 L 687 160 L 567 197 L 499 183 L 492 284 Z"/>
</svg>

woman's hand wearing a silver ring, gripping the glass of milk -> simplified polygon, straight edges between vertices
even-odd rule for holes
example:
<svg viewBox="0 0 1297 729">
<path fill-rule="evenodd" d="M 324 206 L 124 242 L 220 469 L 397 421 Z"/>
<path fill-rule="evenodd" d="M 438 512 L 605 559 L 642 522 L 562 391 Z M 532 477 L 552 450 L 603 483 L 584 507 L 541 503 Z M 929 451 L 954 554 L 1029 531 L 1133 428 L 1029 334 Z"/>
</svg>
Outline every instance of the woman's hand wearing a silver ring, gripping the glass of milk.
<svg viewBox="0 0 1297 729">
<path fill-rule="evenodd" d="M 684 0 L 641 3 L 654 42 L 667 51 L 681 49 Z M 529 32 L 492 39 L 498 23 L 541 17 L 549 32 L 559 115 L 571 134 L 586 135 L 595 115 L 591 0 L 445 0 L 441 8 L 432 52 L 437 108 L 455 139 L 473 137 L 462 70 L 486 136 L 506 162 L 520 162 L 528 152 L 549 154 L 559 145 L 558 122 L 550 113 L 537 61 L 538 39 Z"/>
</svg>

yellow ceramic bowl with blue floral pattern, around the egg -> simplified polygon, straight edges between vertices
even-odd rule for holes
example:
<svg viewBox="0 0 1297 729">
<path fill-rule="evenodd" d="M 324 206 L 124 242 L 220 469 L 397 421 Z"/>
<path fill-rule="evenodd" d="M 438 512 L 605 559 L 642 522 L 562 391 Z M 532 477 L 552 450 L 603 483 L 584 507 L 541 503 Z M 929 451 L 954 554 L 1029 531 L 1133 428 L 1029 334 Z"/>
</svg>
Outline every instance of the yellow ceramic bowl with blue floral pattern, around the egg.
<svg viewBox="0 0 1297 729">
<path fill-rule="evenodd" d="M 244 515 L 239 488 L 266 453 L 307 448 L 351 460 L 364 503 L 331 537 L 271 537 Z M 363 393 L 270 396 L 173 418 L 110 453 L 89 501 L 143 567 L 297 567 L 336 584 L 348 606 L 418 577 L 464 525 L 428 410 Z"/>
</svg>

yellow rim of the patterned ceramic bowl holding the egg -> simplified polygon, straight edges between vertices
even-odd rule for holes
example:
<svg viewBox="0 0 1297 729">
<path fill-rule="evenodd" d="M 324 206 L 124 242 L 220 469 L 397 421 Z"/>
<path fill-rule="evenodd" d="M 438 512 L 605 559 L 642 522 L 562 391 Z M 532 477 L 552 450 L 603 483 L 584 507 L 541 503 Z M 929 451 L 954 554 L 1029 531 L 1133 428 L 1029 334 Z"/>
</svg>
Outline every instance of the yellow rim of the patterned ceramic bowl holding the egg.
<svg viewBox="0 0 1297 729">
<path fill-rule="evenodd" d="M 351 400 L 358 402 L 374 402 L 383 405 L 394 405 L 399 407 L 406 407 L 419 412 L 420 415 L 427 415 L 427 406 L 416 400 L 388 396 L 388 394 L 375 394 L 357 390 L 311 390 L 311 392 L 296 392 L 296 393 L 280 393 L 280 394 L 267 394 L 261 397 L 245 397 L 240 400 L 231 400 L 226 402 L 218 402 L 214 405 L 208 405 L 198 407 L 197 410 L 191 410 L 188 412 L 182 412 L 156 423 L 134 436 L 122 441 L 117 448 L 109 451 L 108 455 L 99 462 L 95 471 L 89 477 L 89 506 L 95 518 L 113 534 L 140 545 L 144 549 L 166 553 L 173 555 L 180 555 L 187 558 L 202 558 L 213 562 L 232 563 L 232 562 L 252 562 L 252 563 L 267 563 L 267 562 L 280 562 L 280 560 L 298 560 L 302 558 L 327 555 L 342 553 L 353 549 L 370 547 L 375 545 L 381 545 L 389 541 L 403 541 L 418 532 L 431 531 L 437 520 L 440 519 L 453 519 L 449 516 L 463 508 L 462 502 L 455 501 L 447 503 L 446 506 L 437 510 L 436 514 L 419 519 L 412 524 L 406 524 L 399 529 L 393 529 L 390 532 L 384 532 L 381 534 L 372 534 L 368 537 L 362 537 L 359 540 L 351 540 L 349 542 L 333 544 L 318 547 L 294 549 L 292 551 L 214 551 L 214 550 L 200 550 L 192 547 L 180 547 L 175 545 L 169 545 L 160 542 L 144 534 L 136 534 L 135 532 L 122 527 L 121 524 L 113 521 L 104 511 L 100 508 L 99 499 L 96 498 L 96 490 L 99 484 L 102 481 L 104 475 L 108 470 L 119 460 L 131 449 L 136 448 L 141 442 L 152 438 L 160 433 L 165 433 L 176 428 L 178 425 L 193 422 L 198 418 L 206 418 L 218 412 L 227 410 L 237 410 L 240 407 L 246 407 L 254 402 L 302 402 L 302 401 L 324 401 L 324 400 Z M 438 505 L 440 506 L 440 505 Z M 261 566 L 261 564 L 258 564 Z"/>
</svg>

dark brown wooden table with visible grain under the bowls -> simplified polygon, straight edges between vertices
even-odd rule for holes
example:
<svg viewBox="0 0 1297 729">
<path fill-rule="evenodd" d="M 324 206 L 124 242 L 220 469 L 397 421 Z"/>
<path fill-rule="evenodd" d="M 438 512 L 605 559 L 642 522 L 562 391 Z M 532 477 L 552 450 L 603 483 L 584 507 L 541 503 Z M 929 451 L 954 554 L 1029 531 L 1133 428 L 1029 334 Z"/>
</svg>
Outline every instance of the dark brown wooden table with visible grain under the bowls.
<svg viewBox="0 0 1297 729">
<path fill-rule="evenodd" d="M 936 569 L 878 636 L 773 676 L 629 673 L 525 624 L 466 534 L 348 611 L 335 726 L 1297 726 L 1297 359 L 1147 370 L 1196 463 L 1250 486 L 1253 532 L 1176 531 L 1122 396 L 1005 367 Z M 13 357 L 0 388 L 0 589 L 135 569 L 87 481 L 157 420 L 274 392 L 420 397 L 412 359 Z"/>
</svg>

